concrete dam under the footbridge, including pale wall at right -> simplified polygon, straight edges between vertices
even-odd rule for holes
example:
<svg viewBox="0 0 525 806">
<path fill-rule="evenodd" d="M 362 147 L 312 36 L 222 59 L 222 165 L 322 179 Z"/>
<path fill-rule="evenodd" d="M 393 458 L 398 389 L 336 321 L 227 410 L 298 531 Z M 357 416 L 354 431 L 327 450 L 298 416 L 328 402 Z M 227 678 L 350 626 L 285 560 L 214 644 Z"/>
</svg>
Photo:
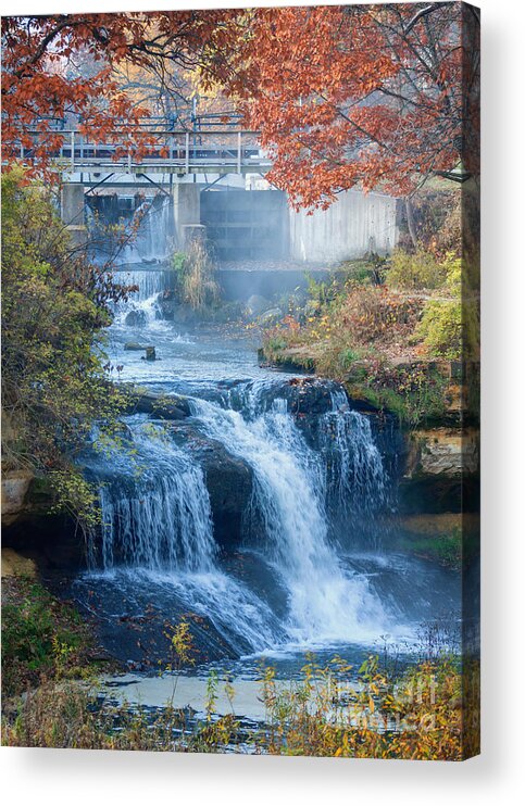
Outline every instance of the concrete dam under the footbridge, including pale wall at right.
<svg viewBox="0 0 525 806">
<path fill-rule="evenodd" d="M 354 190 L 340 193 L 326 211 L 295 212 L 286 193 L 275 189 L 151 181 L 149 187 L 101 182 L 86 190 L 71 182 L 63 187 L 62 218 L 82 240 L 90 216 L 111 225 L 130 223 L 145 202 L 147 215 L 162 219 L 163 240 L 172 250 L 183 251 L 188 239 L 205 237 L 221 267 L 267 261 L 326 267 L 366 253 L 389 254 L 398 240 L 397 199 Z"/>
</svg>

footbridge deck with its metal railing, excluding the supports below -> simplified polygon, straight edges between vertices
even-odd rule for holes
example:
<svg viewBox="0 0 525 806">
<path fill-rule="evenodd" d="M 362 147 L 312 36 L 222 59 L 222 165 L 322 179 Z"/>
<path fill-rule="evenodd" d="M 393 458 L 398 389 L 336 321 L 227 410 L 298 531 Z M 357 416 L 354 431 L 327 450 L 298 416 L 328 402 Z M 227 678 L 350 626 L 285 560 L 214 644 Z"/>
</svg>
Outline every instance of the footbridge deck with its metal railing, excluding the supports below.
<svg viewBox="0 0 525 806">
<path fill-rule="evenodd" d="M 50 149 L 49 155 L 64 173 L 76 174 L 264 174 L 272 162 L 259 148 L 257 131 L 241 128 L 212 127 L 192 131 L 139 128 L 135 138 L 129 131 L 111 133 L 111 142 L 97 143 L 85 138 L 78 129 L 27 134 L 34 148 L 20 147 L 21 160 L 32 160 L 35 149 L 45 146 L 46 139 L 60 135 L 63 143 Z M 140 144 L 148 141 L 147 146 Z M 83 184 L 89 184 L 89 178 Z"/>
</svg>

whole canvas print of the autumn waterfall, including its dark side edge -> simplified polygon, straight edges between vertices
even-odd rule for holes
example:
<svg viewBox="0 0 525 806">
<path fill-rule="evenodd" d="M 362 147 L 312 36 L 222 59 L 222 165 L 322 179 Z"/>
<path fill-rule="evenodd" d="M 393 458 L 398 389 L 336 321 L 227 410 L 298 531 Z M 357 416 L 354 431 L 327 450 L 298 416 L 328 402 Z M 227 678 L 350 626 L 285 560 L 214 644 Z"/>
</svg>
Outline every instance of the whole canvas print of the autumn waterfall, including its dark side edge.
<svg viewBox="0 0 525 806">
<path fill-rule="evenodd" d="M 479 752 L 478 42 L 3 18 L 5 744 Z"/>
</svg>

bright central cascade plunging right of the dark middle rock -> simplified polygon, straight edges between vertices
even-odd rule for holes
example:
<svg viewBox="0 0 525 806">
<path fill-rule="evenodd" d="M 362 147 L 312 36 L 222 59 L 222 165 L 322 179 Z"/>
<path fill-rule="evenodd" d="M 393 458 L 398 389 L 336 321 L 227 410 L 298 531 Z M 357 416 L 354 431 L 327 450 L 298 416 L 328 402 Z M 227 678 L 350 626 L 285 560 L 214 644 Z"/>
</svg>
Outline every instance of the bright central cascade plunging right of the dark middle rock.
<svg viewBox="0 0 525 806">
<path fill-rule="evenodd" d="M 266 559 L 288 592 L 290 638 L 311 644 L 380 634 L 387 617 L 379 600 L 330 545 L 322 455 L 308 446 L 286 401 L 262 413 L 253 400 L 245 413 L 202 400 L 191 406 L 207 433 L 254 471 L 253 509 Z"/>
</svg>

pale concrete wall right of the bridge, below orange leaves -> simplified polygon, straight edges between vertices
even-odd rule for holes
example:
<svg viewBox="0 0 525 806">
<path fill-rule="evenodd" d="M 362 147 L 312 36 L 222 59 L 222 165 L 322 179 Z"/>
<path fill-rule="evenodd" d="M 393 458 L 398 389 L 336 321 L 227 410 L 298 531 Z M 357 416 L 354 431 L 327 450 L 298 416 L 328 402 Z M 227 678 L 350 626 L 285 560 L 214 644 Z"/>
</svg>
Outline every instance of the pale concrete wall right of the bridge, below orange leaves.
<svg viewBox="0 0 525 806">
<path fill-rule="evenodd" d="M 397 200 L 380 193 L 340 193 L 326 211 L 290 210 L 290 257 L 337 262 L 366 252 L 387 254 L 397 243 Z"/>
</svg>

